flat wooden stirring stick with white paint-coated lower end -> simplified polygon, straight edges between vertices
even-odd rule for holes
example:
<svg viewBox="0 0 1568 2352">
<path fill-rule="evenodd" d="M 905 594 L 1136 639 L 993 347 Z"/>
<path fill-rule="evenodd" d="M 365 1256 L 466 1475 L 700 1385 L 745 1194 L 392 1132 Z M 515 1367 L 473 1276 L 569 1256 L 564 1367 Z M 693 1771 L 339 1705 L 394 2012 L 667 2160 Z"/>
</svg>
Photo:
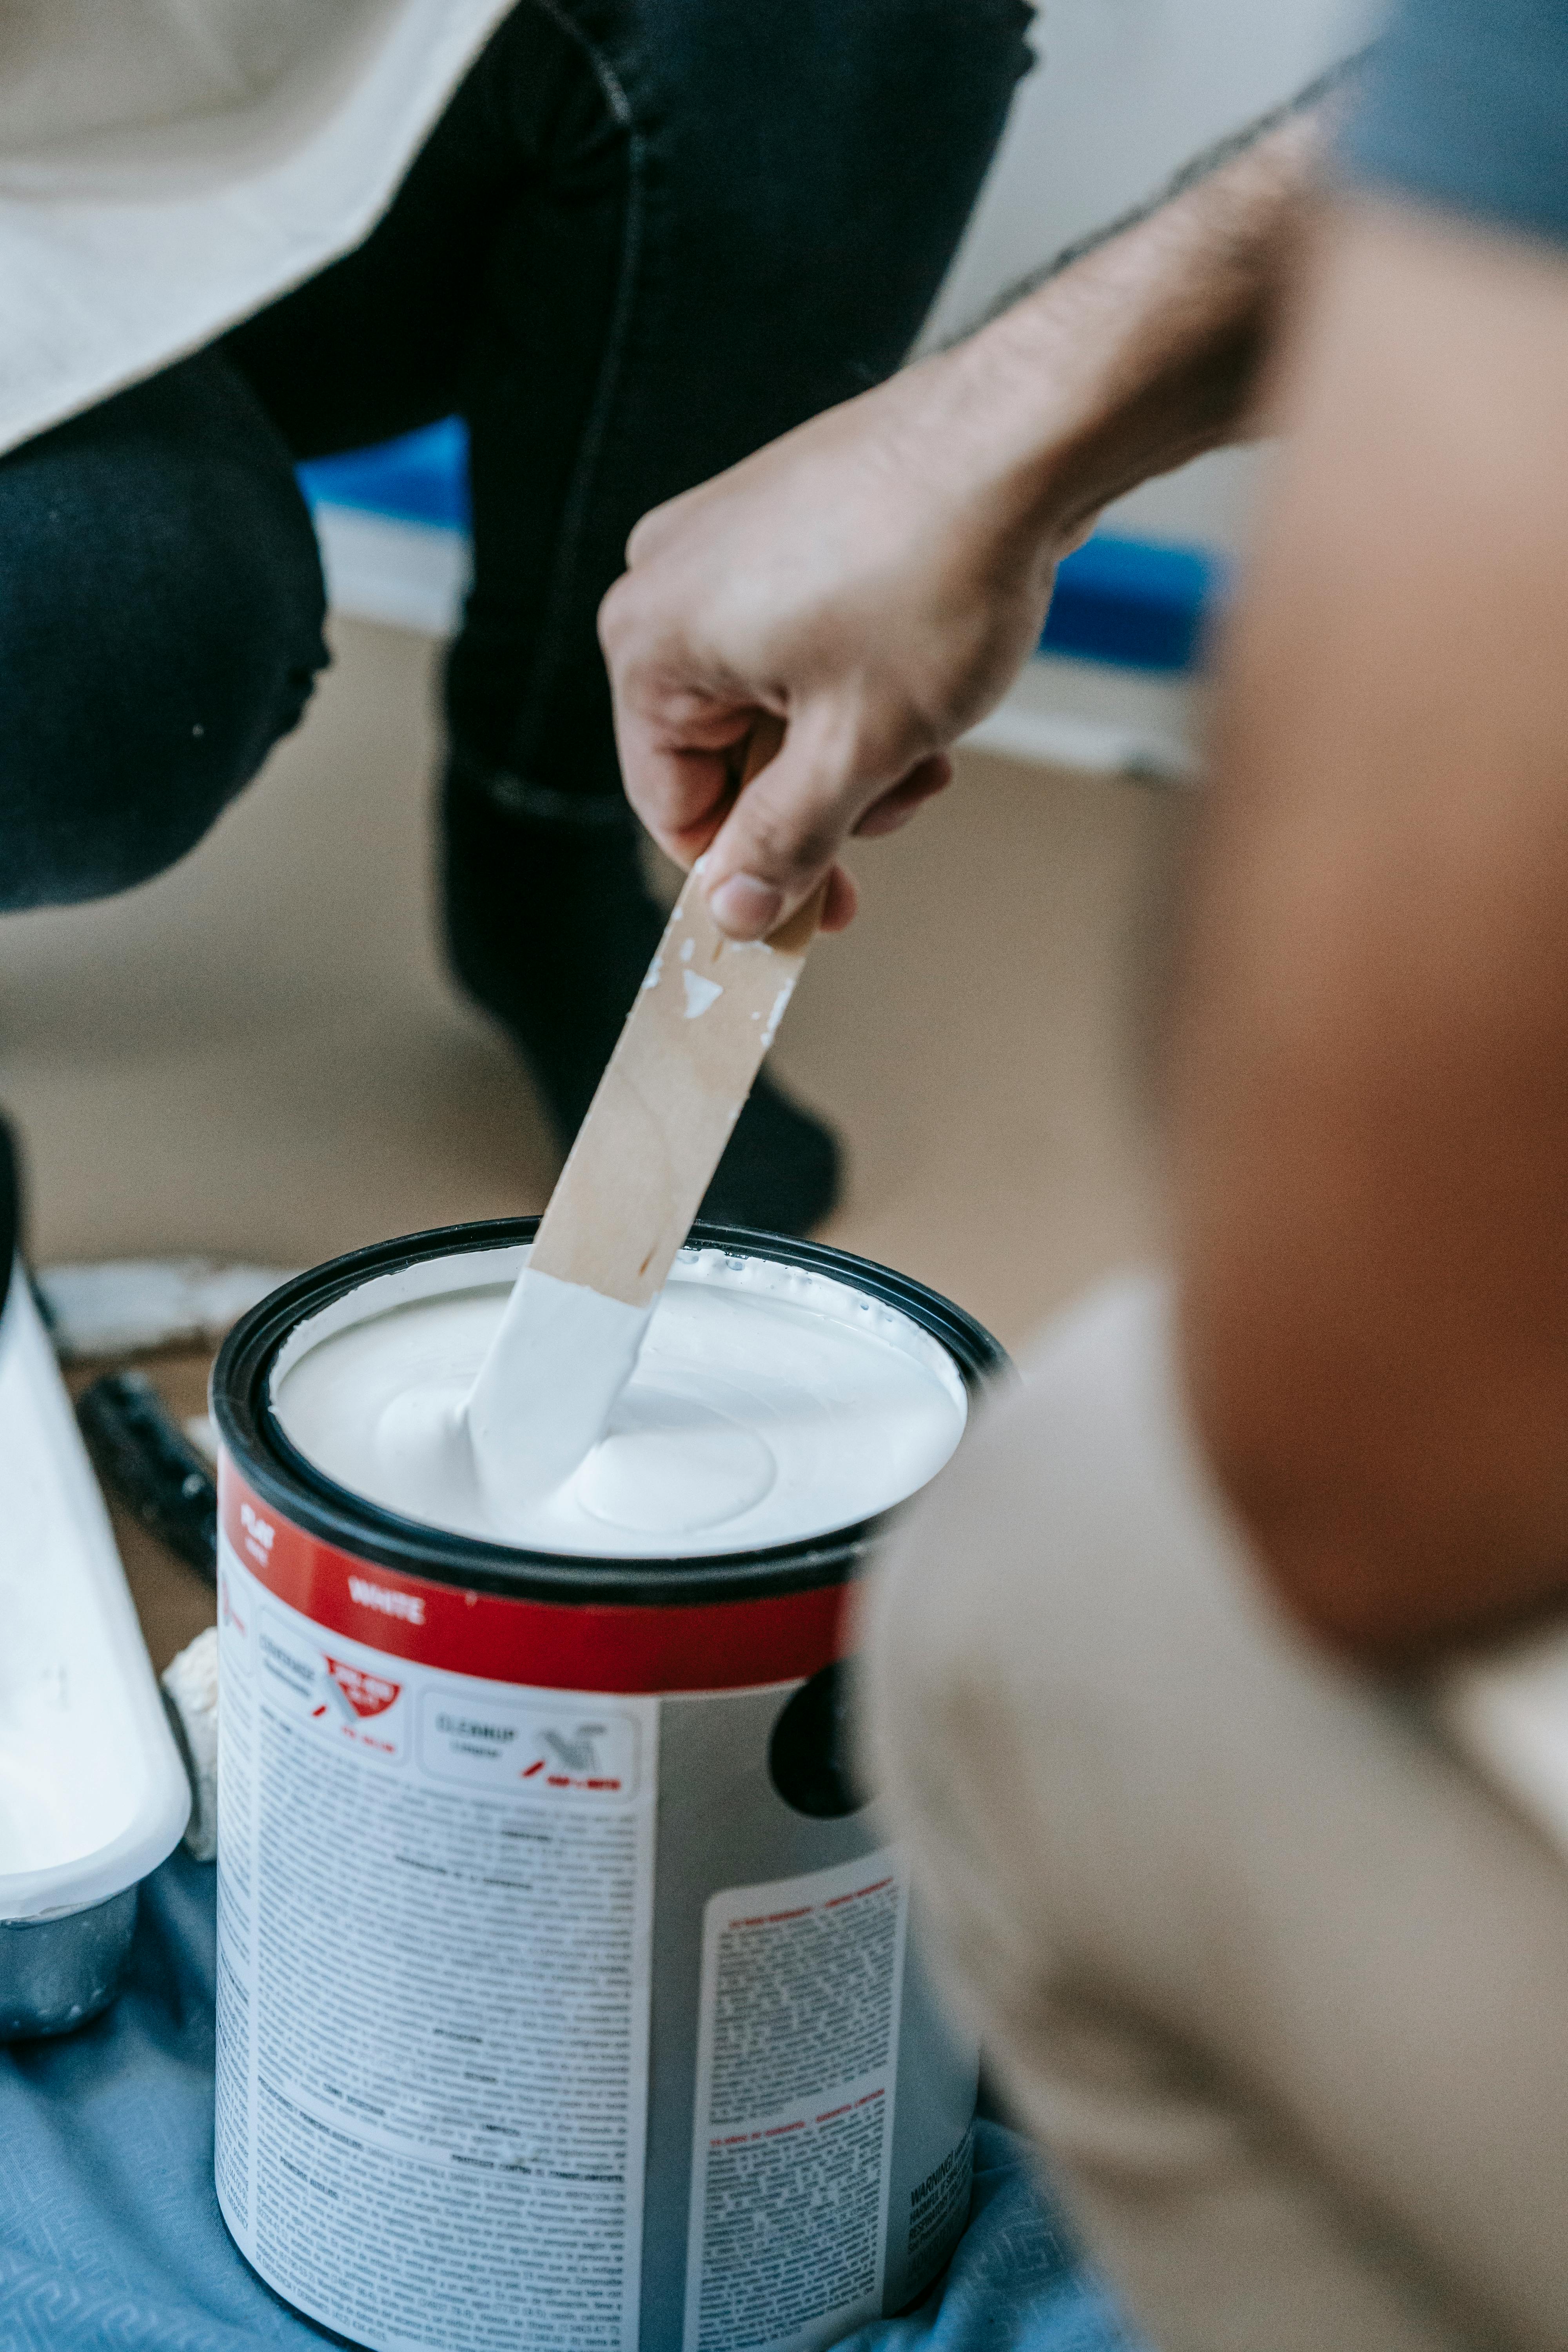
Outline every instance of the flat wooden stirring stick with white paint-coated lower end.
<svg viewBox="0 0 1568 2352">
<path fill-rule="evenodd" d="M 773 720 L 755 729 L 743 783 L 780 739 Z M 468 1397 L 503 1524 L 604 1435 L 820 913 L 816 891 L 771 938 L 733 941 L 686 877 Z"/>
</svg>

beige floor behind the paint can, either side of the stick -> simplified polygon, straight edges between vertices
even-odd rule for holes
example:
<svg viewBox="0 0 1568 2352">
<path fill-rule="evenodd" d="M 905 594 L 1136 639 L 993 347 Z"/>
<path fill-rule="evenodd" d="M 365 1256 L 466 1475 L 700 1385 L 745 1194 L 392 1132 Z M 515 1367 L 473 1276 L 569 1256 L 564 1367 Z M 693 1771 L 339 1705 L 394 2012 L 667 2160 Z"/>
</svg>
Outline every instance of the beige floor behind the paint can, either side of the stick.
<svg viewBox="0 0 1568 2352">
<path fill-rule="evenodd" d="M 339 623 L 306 727 L 172 875 L 0 922 L 0 1103 L 40 1261 L 308 1263 L 536 1209 L 555 1155 L 430 924 L 435 647 Z M 856 863 L 778 1063 L 842 1124 L 830 1237 L 1018 1341 L 1152 1237 L 1138 1101 L 1182 795 L 966 755 Z"/>
</svg>

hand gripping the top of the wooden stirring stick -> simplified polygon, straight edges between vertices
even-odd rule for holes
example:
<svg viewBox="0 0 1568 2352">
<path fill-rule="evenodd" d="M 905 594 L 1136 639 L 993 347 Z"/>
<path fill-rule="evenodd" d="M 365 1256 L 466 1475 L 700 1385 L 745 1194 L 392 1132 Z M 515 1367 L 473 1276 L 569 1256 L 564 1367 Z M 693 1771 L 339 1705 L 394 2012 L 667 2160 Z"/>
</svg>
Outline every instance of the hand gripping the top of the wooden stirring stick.
<svg viewBox="0 0 1568 2352">
<path fill-rule="evenodd" d="M 1039 412 L 1039 390 L 1030 405 Z M 827 880 L 856 889 L 851 833 L 940 793 L 947 748 L 1032 652 L 1063 534 L 1009 386 L 976 339 L 811 419 L 654 508 L 599 612 L 625 790 L 736 938 L 773 931 Z M 757 717 L 783 748 L 745 790 Z"/>
</svg>

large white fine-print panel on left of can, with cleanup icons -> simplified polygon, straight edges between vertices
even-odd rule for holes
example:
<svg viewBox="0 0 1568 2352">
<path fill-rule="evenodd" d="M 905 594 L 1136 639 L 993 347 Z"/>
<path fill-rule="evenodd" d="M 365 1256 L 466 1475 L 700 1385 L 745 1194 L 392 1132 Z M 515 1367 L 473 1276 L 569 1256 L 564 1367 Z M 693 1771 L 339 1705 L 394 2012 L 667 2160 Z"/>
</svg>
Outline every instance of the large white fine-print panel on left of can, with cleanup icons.
<svg viewBox="0 0 1568 2352">
<path fill-rule="evenodd" d="M 219 1616 L 233 2237 L 374 2352 L 635 2352 L 656 1700 L 386 1656 L 226 1543 Z"/>
</svg>

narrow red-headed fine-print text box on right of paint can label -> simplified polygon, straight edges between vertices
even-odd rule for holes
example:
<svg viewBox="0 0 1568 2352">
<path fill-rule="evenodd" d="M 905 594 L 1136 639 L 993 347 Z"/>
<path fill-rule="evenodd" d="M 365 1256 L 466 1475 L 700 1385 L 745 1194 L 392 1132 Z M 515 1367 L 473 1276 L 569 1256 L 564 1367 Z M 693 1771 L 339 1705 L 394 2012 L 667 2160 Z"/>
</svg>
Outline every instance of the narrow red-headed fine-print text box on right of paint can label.
<svg viewBox="0 0 1568 2352">
<path fill-rule="evenodd" d="M 891 1846 L 708 1903 L 684 2352 L 882 2312 L 907 1917 Z"/>
</svg>

